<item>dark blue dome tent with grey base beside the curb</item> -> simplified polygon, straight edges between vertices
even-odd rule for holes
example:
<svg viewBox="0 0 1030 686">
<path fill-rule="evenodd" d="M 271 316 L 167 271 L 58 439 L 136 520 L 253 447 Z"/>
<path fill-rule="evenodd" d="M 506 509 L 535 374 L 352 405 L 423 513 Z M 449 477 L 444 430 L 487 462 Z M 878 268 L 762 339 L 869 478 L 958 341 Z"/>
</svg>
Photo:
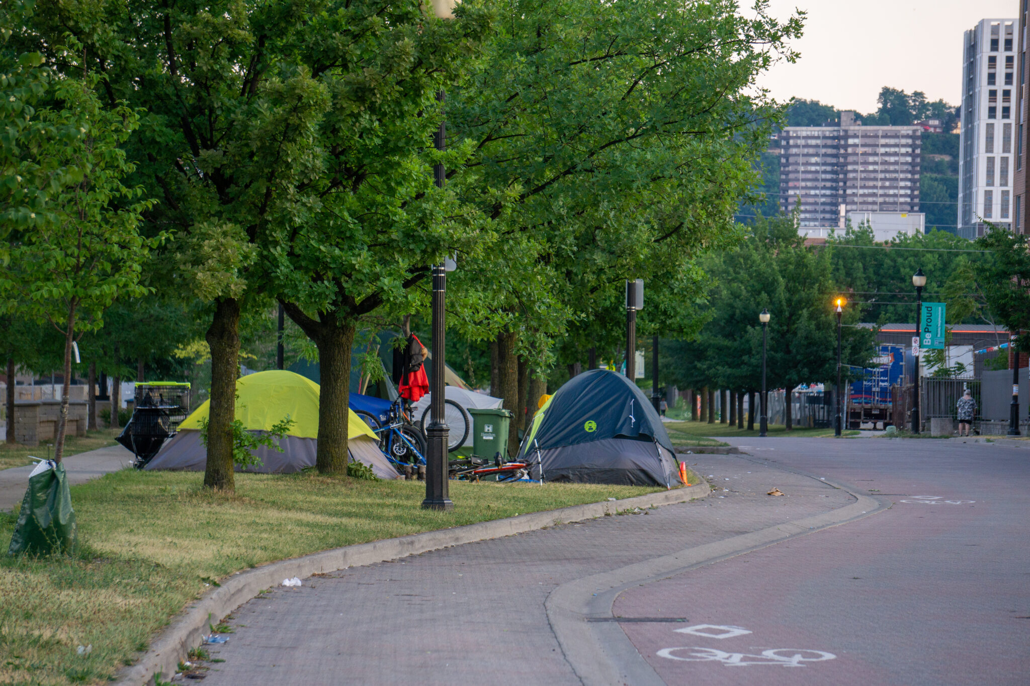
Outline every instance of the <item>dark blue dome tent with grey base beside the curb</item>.
<svg viewBox="0 0 1030 686">
<path fill-rule="evenodd" d="M 533 478 L 580 483 L 679 482 L 673 443 L 637 385 L 607 369 L 571 378 L 538 410 L 519 447 Z"/>
</svg>

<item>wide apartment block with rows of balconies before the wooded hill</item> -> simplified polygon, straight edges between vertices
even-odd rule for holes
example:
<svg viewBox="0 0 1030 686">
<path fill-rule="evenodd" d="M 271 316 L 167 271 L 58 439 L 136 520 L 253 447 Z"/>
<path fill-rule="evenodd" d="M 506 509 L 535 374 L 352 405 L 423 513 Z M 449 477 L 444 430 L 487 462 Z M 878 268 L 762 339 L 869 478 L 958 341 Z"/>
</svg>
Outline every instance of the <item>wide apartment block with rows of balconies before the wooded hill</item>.
<svg viewBox="0 0 1030 686">
<path fill-rule="evenodd" d="M 843 228 L 848 212 L 919 212 L 922 128 L 863 127 L 854 112 L 780 134 L 780 208 L 802 227 Z"/>
</svg>

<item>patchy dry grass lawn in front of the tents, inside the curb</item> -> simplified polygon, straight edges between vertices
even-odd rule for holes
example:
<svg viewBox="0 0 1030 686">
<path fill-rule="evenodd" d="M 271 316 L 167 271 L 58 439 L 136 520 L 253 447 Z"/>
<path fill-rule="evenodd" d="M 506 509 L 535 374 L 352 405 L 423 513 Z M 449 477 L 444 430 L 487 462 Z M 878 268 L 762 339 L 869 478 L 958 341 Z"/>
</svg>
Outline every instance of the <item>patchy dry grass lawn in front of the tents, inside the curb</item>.
<svg viewBox="0 0 1030 686">
<path fill-rule="evenodd" d="M 242 569 L 658 490 L 451 481 L 454 510 L 437 512 L 419 507 L 418 481 L 237 474 L 235 496 L 205 492 L 202 481 L 195 472 L 123 470 L 72 486 L 78 554 L 0 554 L 0 684 L 105 682 L 207 584 Z M 0 545 L 14 522 L 0 512 Z M 78 646 L 93 649 L 78 655 Z"/>
</svg>

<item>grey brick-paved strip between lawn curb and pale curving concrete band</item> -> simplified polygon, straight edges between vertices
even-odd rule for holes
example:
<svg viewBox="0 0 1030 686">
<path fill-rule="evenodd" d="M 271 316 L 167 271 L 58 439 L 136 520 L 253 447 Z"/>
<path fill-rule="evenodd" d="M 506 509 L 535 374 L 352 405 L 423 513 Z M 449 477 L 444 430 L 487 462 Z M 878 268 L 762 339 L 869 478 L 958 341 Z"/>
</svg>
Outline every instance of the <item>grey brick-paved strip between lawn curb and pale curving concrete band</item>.
<svg viewBox="0 0 1030 686">
<path fill-rule="evenodd" d="M 274 588 L 209 645 L 208 684 L 579 684 L 545 602 L 558 585 L 855 502 L 744 457 L 689 456 L 703 501 L 470 543 Z M 769 497 L 774 486 L 787 497 Z M 460 503 L 455 504 L 460 507 Z M 180 678 L 181 680 L 181 678 Z"/>
</svg>

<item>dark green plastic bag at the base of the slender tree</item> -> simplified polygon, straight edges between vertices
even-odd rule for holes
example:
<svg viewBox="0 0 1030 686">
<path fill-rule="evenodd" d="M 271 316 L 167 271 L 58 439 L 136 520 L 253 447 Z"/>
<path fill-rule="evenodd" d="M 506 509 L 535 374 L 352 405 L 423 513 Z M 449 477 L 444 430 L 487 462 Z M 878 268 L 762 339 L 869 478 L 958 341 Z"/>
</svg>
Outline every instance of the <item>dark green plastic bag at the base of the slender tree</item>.
<svg viewBox="0 0 1030 686">
<path fill-rule="evenodd" d="M 75 545 L 75 511 L 71 508 L 68 477 L 63 464 L 48 464 L 52 469 L 29 477 L 14 535 L 10 537 L 9 555 L 71 552 Z"/>
</svg>

